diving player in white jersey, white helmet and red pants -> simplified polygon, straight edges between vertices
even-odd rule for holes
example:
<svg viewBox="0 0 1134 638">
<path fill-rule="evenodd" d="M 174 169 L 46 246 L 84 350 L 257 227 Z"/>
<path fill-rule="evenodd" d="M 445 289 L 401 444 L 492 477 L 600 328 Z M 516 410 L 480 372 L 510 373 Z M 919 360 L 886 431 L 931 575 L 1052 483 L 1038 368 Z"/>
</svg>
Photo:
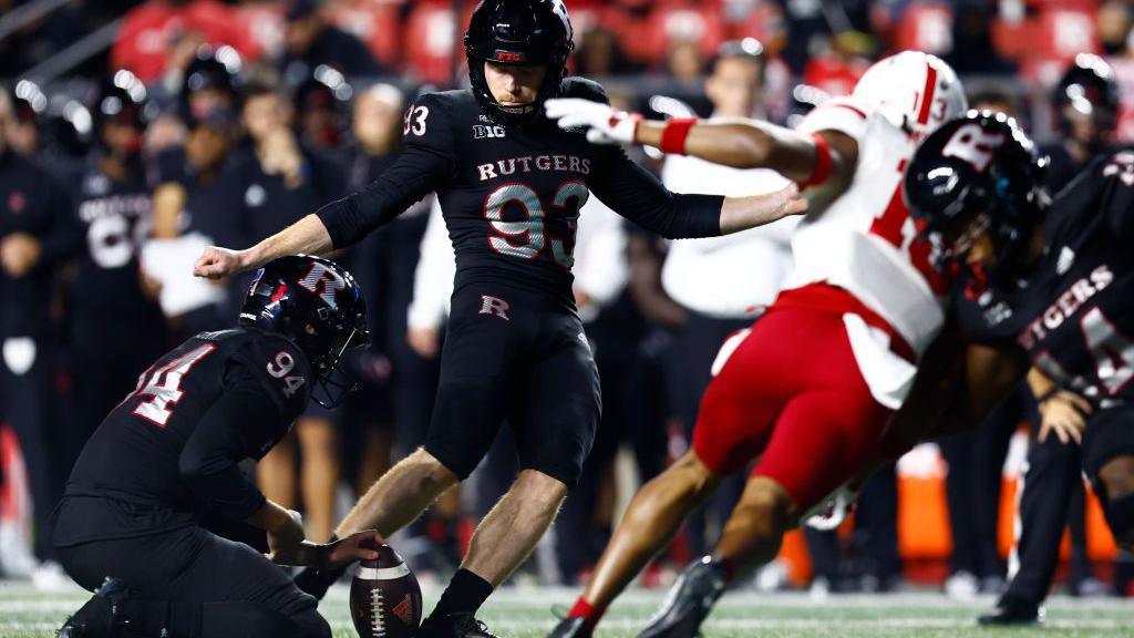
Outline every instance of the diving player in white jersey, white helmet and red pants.
<svg viewBox="0 0 1134 638">
<path fill-rule="evenodd" d="M 917 143 L 964 110 L 953 69 L 914 51 L 879 61 L 850 98 L 822 104 L 795 131 L 754 120 L 640 121 L 583 100 L 548 103 L 559 126 L 585 126 L 593 142 L 775 168 L 815 191 L 793 237 L 787 289 L 721 349 L 693 450 L 634 497 L 551 636 L 590 636 L 686 514 L 760 456 L 713 552 L 686 569 L 641 635 L 694 636 L 726 587 L 772 560 L 801 513 L 878 454 L 945 319 L 945 279 L 929 245 L 915 241 L 902 175 Z"/>
</svg>

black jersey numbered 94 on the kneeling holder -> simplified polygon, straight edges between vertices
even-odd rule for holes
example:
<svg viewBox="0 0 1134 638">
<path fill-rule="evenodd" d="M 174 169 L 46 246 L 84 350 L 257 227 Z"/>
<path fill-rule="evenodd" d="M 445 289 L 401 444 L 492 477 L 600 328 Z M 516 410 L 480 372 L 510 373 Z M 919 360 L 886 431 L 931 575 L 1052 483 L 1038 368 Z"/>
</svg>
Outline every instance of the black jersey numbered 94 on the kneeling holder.
<svg viewBox="0 0 1134 638">
<path fill-rule="evenodd" d="M 240 423 L 242 447 L 259 460 L 306 406 L 307 360 L 287 338 L 257 328 L 202 333 L 141 375 L 83 448 L 67 494 L 192 510 L 181 451 L 226 389 L 249 377 L 277 408 Z"/>
</svg>

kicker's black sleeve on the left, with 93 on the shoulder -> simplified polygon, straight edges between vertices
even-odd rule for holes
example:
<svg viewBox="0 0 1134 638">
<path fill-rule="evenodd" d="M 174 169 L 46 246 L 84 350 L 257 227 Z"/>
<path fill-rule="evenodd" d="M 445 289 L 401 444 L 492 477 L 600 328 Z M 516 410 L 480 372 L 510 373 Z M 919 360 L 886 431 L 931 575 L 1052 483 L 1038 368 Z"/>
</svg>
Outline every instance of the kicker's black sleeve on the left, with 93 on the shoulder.
<svg viewBox="0 0 1134 638">
<path fill-rule="evenodd" d="M 333 247 L 358 242 L 451 177 L 456 163 L 452 134 L 438 95 L 422 95 L 406 111 L 405 143 L 405 151 L 378 179 L 315 212 Z"/>
</svg>

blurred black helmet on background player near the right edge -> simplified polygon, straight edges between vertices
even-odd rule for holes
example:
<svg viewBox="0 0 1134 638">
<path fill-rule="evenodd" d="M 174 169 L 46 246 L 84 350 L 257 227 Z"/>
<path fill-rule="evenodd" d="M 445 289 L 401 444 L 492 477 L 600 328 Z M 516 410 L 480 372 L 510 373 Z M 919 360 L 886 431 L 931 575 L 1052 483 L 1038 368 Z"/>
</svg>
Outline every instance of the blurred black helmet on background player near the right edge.
<svg viewBox="0 0 1134 638">
<path fill-rule="evenodd" d="M 1080 53 L 1056 85 L 1051 106 L 1063 135 L 1072 133 L 1067 107 L 1090 116 L 1099 131 L 1106 134 L 1118 125 L 1120 100 L 1115 69 L 1099 56 Z"/>
</svg>

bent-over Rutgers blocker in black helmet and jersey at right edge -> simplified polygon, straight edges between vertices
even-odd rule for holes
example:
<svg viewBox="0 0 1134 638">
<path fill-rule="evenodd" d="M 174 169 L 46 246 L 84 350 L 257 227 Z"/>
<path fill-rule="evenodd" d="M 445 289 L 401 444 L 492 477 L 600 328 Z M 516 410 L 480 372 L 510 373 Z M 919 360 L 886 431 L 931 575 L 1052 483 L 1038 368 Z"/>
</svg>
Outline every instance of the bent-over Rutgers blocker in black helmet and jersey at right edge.
<svg viewBox="0 0 1134 638">
<path fill-rule="evenodd" d="M 907 200 L 960 274 L 954 299 L 970 344 L 957 350 L 955 392 L 920 380 L 914 410 L 895 427 L 972 427 L 1031 366 L 1041 406 L 1065 413 L 1046 418 L 1044 430 L 1082 439 L 1083 470 L 1115 540 L 1129 548 L 1134 153 L 1097 158 L 1055 200 L 1044 165 L 1014 120 L 987 111 L 942 127 L 915 156 Z"/>
</svg>

